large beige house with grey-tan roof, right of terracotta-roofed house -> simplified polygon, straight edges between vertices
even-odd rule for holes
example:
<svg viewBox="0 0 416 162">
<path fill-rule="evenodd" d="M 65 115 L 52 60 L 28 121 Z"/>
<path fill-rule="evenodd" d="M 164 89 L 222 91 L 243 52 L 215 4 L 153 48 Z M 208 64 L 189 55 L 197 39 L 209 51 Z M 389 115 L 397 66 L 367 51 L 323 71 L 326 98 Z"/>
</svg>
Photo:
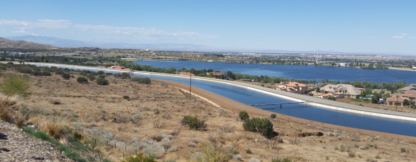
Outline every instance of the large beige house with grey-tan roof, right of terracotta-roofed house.
<svg viewBox="0 0 416 162">
<path fill-rule="evenodd" d="M 361 92 L 363 91 L 362 88 L 356 88 L 349 84 L 327 84 L 320 88 L 320 91 L 323 93 L 331 93 L 334 94 L 336 92 L 340 92 L 344 94 L 344 97 L 347 98 L 359 98 Z M 339 94 L 338 94 L 339 96 Z"/>
</svg>

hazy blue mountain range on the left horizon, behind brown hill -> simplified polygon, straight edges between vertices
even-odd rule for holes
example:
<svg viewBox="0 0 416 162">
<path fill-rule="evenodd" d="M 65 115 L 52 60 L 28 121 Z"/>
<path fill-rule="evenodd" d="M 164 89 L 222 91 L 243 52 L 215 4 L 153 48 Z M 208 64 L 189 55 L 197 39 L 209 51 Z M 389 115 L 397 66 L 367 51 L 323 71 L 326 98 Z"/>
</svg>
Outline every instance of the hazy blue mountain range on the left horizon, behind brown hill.
<svg viewBox="0 0 416 162">
<path fill-rule="evenodd" d="M 150 49 L 161 51 L 218 51 L 219 49 L 210 46 L 192 45 L 192 44 L 127 44 L 127 43 L 98 43 L 85 42 L 70 39 L 61 39 L 55 37 L 41 37 L 41 36 L 18 36 L 5 37 L 15 41 L 28 41 L 40 44 L 53 45 L 55 47 L 63 48 L 77 48 L 77 47 L 97 47 L 102 49 L 119 48 L 119 49 Z"/>
</svg>

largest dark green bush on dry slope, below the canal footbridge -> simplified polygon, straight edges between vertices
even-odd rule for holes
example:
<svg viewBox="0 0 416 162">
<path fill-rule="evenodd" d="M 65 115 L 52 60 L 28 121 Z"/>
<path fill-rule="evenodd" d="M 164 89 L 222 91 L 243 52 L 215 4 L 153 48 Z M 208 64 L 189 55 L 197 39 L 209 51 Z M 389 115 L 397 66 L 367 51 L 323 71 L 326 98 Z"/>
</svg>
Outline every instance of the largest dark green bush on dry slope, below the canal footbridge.
<svg viewBox="0 0 416 162">
<path fill-rule="evenodd" d="M 253 119 L 247 119 L 243 123 L 243 128 L 246 131 L 260 132 L 266 138 L 273 138 L 277 135 L 277 132 L 273 130 L 273 123 L 267 118 L 255 117 Z"/>
</svg>

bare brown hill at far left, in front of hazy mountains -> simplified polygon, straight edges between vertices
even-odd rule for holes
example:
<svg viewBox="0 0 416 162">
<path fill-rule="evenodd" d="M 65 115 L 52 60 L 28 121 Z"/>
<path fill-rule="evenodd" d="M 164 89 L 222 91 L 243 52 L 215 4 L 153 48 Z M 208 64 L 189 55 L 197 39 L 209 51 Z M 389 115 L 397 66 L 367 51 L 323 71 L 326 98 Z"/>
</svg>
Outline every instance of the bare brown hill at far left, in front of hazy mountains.
<svg viewBox="0 0 416 162">
<path fill-rule="evenodd" d="M 0 48 L 47 50 L 55 47 L 52 45 L 43 45 L 27 41 L 14 41 L 5 38 L 0 38 Z"/>
</svg>

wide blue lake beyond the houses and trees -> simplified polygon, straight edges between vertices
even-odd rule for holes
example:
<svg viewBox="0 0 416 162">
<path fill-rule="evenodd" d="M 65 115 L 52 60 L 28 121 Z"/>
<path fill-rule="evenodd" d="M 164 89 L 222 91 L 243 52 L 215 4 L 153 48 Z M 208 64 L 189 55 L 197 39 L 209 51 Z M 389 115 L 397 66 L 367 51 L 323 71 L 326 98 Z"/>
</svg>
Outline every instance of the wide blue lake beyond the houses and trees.
<svg viewBox="0 0 416 162">
<path fill-rule="evenodd" d="M 222 72 L 232 71 L 249 75 L 268 75 L 285 77 L 289 79 L 303 79 L 321 81 L 328 79 L 333 81 L 368 81 L 368 82 L 402 82 L 407 84 L 416 83 L 416 71 L 403 71 L 392 69 L 364 70 L 359 68 L 334 67 L 334 66 L 311 66 L 311 65 L 272 65 L 272 64 L 246 64 L 246 63 L 224 63 L 224 62 L 202 62 L 202 61 L 178 61 L 178 60 L 140 60 L 133 61 L 139 65 L 149 65 L 159 68 L 180 69 L 214 69 Z"/>
</svg>

